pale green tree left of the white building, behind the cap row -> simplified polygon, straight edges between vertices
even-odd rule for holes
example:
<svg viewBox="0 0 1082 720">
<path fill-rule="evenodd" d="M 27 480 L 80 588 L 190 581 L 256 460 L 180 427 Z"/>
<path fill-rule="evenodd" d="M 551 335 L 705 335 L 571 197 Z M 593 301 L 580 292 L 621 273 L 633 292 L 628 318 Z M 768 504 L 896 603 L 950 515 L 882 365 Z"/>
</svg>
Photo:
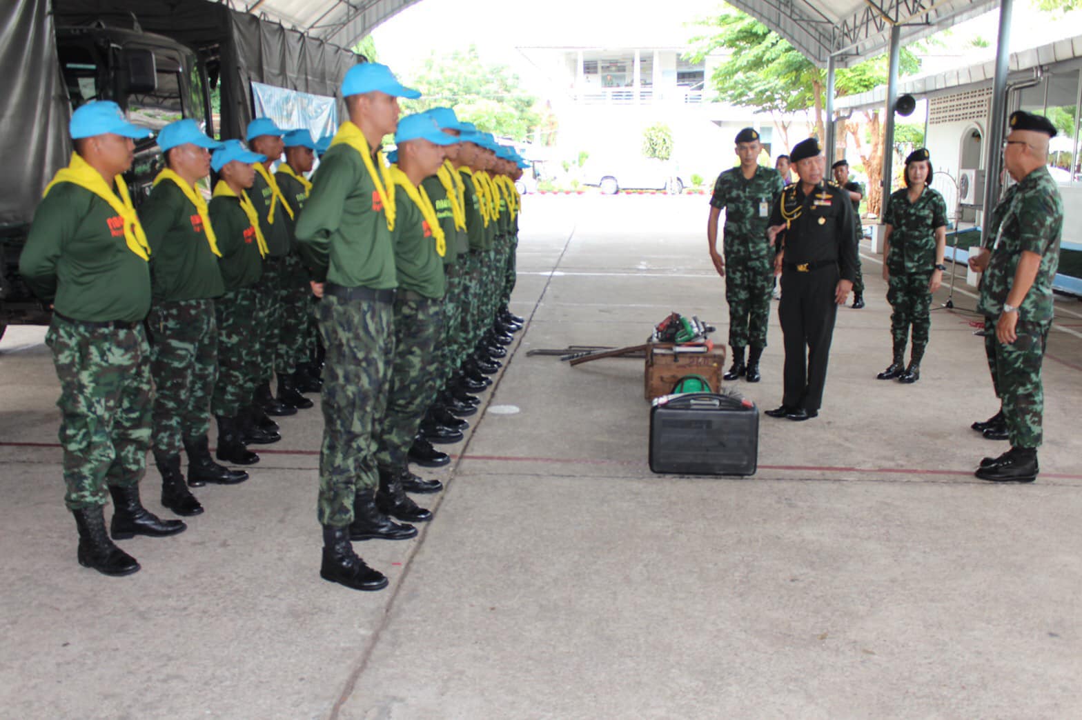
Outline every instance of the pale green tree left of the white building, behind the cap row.
<svg viewBox="0 0 1082 720">
<path fill-rule="evenodd" d="M 432 53 L 413 75 L 412 84 L 422 96 L 403 103 L 407 112 L 446 105 L 454 108 L 460 120 L 518 141 L 549 124 L 536 98 L 522 89 L 518 76 L 504 65 L 486 65 L 473 45 L 450 55 Z"/>
</svg>

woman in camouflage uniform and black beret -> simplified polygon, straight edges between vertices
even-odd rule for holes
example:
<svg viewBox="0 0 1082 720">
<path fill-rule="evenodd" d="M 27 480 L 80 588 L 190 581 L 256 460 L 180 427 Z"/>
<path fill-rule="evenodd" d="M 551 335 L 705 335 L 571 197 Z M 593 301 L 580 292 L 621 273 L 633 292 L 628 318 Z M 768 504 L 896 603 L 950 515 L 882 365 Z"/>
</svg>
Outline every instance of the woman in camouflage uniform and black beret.
<svg viewBox="0 0 1082 720">
<path fill-rule="evenodd" d="M 947 251 L 947 203 L 928 187 L 932 156 L 924 148 L 906 158 L 906 187 L 890 195 L 883 222 L 883 279 L 890 314 L 894 355 L 879 379 L 898 378 L 915 383 L 921 378 L 921 359 L 932 330 L 932 293 L 942 284 L 944 253 Z M 906 341 L 913 328 L 913 347 L 906 368 Z"/>
</svg>

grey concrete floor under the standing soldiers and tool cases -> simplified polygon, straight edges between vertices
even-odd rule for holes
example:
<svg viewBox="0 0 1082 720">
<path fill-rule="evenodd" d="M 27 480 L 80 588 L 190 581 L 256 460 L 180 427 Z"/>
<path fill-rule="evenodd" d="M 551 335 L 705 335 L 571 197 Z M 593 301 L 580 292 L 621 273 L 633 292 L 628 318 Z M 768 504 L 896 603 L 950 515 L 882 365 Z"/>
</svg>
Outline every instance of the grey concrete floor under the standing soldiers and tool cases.
<svg viewBox="0 0 1082 720">
<path fill-rule="evenodd" d="M 972 471 L 1005 443 L 975 301 L 934 312 L 913 386 L 874 379 L 889 308 L 843 308 L 819 418 L 762 418 L 758 472 L 647 467 L 642 361 L 669 311 L 724 342 L 703 197 L 526 199 L 513 309 L 528 326 L 412 541 L 355 544 L 392 585 L 319 579 L 318 411 L 252 479 L 196 491 L 143 570 L 76 563 L 42 329 L 0 342 L 0 715 L 11 718 L 1077 718 L 1082 716 L 1082 305 L 1050 338 L 1042 474 Z M 947 293 L 937 295 L 937 305 Z M 781 397 L 781 334 L 758 385 Z M 157 474 L 144 484 L 160 510 Z M 168 514 L 166 514 L 168 516 Z"/>
</svg>

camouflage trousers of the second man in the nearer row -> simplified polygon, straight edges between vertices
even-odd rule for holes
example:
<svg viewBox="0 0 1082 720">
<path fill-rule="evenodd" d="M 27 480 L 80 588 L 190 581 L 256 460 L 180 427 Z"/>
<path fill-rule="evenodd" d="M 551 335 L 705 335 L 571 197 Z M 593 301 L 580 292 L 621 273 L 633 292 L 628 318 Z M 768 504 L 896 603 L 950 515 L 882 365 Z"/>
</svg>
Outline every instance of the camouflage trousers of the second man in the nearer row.
<svg viewBox="0 0 1082 720">
<path fill-rule="evenodd" d="M 398 291 L 395 301 L 395 351 L 387 402 L 379 425 L 375 461 L 382 468 L 406 467 L 406 455 L 424 413 L 436 397 L 444 299 Z M 404 297 L 408 295 L 408 297 Z"/>
</svg>

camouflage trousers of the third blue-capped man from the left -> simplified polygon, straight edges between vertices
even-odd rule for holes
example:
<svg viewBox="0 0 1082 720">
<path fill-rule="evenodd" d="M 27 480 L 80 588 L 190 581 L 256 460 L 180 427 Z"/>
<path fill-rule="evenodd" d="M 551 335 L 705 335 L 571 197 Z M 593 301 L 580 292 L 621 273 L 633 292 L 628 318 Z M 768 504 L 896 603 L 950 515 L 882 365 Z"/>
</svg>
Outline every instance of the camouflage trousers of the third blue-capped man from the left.
<svg viewBox="0 0 1082 720">
<path fill-rule="evenodd" d="M 217 319 L 217 382 L 211 398 L 215 415 L 236 417 L 252 402 L 255 386 L 263 373 L 263 348 L 266 316 L 259 310 L 260 296 L 254 288 L 230 290 L 214 303 Z"/>
</svg>

